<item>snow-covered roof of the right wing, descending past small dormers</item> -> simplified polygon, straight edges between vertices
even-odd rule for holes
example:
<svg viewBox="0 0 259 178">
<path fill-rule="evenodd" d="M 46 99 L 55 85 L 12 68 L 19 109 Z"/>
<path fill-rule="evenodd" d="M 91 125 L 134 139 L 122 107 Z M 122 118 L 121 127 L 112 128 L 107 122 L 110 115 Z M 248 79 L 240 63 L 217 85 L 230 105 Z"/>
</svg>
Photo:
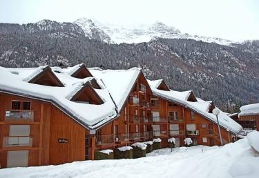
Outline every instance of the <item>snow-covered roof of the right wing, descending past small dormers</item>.
<svg viewBox="0 0 259 178">
<path fill-rule="evenodd" d="M 148 81 L 149 83 L 149 81 Z M 157 88 L 152 88 L 153 95 L 157 97 L 162 97 L 163 99 L 167 99 L 169 101 L 178 103 L 186 108 L 190 108 L 191 110 L 203 115 L 207 119 L 216 122 L 217 118 L 215 115 L 209 112 L 209 107 L 211 105 L 211 101 L 204 101 L 202 99 L 197 98 L 197 101 L 188 101 L 189 95 L 191 91 L 178 92 L 174 90 L 164 91 L 158 90 Z M 231 119 L 226 115 L 225 112 L 220 110 L 220 114 L 218 115 L 220 126 L 223 128 L 229 129 L 231 132 L 238 134 L 242 130 L 242 126 L 239 123 Z"/>
</svg>

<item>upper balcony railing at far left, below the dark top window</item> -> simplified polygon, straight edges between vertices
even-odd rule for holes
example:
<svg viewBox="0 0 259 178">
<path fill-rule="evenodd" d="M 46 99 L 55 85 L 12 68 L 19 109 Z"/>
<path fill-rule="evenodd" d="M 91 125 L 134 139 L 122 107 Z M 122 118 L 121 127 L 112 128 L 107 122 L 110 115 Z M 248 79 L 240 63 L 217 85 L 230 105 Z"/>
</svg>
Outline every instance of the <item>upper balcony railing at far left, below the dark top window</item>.
<svg viewBox="0 0 259 178">
<path fill-rule="evenodd" d="M 33 110 L 6 110 L 5 121 L 33 121 Z"/>
</svg>

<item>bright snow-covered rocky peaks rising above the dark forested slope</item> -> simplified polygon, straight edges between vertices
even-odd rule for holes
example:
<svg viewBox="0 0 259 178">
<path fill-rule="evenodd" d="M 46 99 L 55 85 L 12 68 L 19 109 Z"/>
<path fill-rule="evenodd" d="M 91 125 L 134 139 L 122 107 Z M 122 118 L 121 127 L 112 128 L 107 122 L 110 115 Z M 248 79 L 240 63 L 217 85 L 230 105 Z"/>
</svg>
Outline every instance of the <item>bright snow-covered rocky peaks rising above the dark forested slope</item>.
<svg viewBox="0 0 259 178">
<path fill-rule="evenodd" d="M 142 43 L 156 38 L 164 39 L 195 39 L 208 43 L 218 43 L 229 45 L 233 41 L 220 38 L 199 37 L 182 33 L 180 30 L 166 26 L 164 23 L 155 22 L 150 25 L 137 24 L 135 26 L 119 26 L 108 23 L 100 23 L 93 19 L 81 18 L 75 21 L 90 39 L 100 39 L 100 41 L 111 43 Z M 99 36 L 98 36 L 99 34 Z"/>
</svg>

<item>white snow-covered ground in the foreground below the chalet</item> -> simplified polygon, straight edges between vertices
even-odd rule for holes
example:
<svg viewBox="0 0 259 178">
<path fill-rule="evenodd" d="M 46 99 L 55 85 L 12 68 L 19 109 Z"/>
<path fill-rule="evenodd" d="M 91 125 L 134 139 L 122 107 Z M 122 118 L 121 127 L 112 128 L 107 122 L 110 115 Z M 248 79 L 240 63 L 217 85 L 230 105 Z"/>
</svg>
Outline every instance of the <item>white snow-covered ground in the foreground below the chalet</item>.
<svg viewBox="0 0 259 178">
<path fill-rule="evenodd" d="M 259 157 L 247 138 L 234 144 L 153 151 L 140 159 L 78 161 L 59 166 L 10 168 L 0 177 L 219 177 L 258 178 Z"/>
</svg>

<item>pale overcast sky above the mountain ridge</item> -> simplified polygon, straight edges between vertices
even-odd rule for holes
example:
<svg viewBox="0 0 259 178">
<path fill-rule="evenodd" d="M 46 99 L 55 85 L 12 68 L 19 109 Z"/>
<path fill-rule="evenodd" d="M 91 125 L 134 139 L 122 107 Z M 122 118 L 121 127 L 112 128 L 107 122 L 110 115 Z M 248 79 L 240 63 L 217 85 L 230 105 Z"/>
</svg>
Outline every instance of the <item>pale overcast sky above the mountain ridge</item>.
<svg viewBox="0 0 259 178">
<path fill-rule="evenodd" d="M 189 34 L 259 39 L 258 0 L 0 0 L 0 22 L 81 17 L 122 25 L 161 21 Z"/>
</svg>

